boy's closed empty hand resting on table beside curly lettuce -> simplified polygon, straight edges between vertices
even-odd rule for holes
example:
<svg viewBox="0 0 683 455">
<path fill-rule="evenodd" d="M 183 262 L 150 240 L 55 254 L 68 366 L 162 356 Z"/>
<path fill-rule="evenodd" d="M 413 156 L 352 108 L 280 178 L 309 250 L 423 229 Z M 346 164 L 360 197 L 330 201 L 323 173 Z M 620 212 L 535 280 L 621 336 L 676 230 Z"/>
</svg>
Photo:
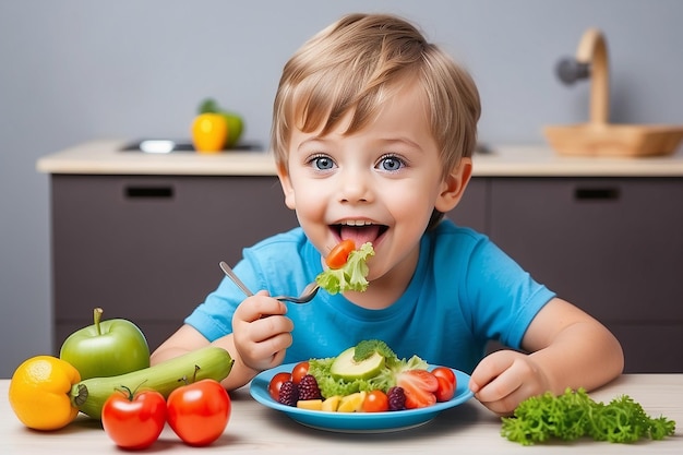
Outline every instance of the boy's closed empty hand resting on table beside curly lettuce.
<svg viewBox="0 0 683 455">
<path fill-rule="evenodd" d="M 487 408 L 499 416 L 510 416 L 519 403 L 550 387 L 534 358 L 514 350 L 499 350 L 477 366 L 469 388 Z"/>
</svg>

